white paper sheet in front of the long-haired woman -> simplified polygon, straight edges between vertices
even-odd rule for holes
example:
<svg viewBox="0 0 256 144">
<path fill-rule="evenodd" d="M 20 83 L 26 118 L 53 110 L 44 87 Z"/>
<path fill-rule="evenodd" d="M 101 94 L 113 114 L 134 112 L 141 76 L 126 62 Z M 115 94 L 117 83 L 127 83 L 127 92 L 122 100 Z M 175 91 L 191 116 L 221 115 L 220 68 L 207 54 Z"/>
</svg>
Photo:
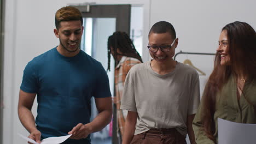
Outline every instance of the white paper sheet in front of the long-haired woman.
<svg viewBox="0 0 256 144">
<path fill-rule="evenodd" d="M 235 123 L 218 118 L 218 143 L 256 143 L 256 124 Z"/>
</svg>

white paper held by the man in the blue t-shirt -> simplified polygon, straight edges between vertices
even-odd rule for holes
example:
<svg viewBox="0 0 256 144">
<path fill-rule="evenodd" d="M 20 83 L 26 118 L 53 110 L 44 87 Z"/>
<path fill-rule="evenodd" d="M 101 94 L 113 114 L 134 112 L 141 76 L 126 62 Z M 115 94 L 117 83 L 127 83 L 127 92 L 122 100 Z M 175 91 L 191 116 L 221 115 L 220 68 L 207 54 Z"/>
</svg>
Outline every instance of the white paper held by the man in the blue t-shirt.
<svg viewBox="0 0 256 144">
<path fill-rule="evenodd" d="M 37 143 L 36 141 L 26 137 L 26 136 L 23 136 L 21 134 L 18 134 L 19 136 L 21 136 L 23 139 L 33 143 L 33 144 L 39 144 Z M 66 141 L 71 135 L 65 135 L 65 136 L 57 136 L 57 137 L 48 137 L 46 139 L 43 139 L 41 141 L 41 144 L 59 144 L 63 141 Z"/>
</svg>

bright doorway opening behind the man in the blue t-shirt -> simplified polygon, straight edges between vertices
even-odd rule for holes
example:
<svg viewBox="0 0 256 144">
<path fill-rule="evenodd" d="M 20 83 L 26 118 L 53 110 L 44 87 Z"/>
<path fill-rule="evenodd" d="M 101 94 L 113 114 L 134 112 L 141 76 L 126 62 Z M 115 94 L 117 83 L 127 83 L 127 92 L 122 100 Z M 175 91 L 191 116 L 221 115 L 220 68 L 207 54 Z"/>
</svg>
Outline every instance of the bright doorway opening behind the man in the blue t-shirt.
<svg viewBox="0 0 256 144">
<path fill-rule="evenodd" d="M 81 41 L 81 50 L 101 62 L 104 69 L 108 66 L 107 40 L 109 35 L 115 32 L 115 18 L 83 18 L 84 32 Z M 107 28 L 106 28 L 107 27 Z M 110 60 L 111 71 L 108 71 L 109 86 L 112 95 L 114 94 L 114 59 Z M 98 112 L 94 98 L 91 99 L 91 121 Z M 110 125 L 107 125 L 101 131 L 91 134 L 91 143 L 112 143 L 110 134 Z"/>
</svg>

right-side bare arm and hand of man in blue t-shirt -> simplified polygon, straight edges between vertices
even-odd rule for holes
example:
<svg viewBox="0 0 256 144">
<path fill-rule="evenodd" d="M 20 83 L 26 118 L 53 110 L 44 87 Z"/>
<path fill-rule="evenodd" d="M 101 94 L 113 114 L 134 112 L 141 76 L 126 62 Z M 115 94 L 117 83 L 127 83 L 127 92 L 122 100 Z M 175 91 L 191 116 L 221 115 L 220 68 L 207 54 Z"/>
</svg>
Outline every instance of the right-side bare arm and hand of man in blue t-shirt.
<svg viewBox="0 0 256 144">
<path fill-rule="evenodd" d="M 94 120 L 88 124 L 79 123 L 75 126 L 68 134 L 72 134 L 71 139 L 83 139 L 86 138 L 90 133 L 100 131 L 112 118 L 112 98 L 95 98 L 98 115 Z"/>
</svg>

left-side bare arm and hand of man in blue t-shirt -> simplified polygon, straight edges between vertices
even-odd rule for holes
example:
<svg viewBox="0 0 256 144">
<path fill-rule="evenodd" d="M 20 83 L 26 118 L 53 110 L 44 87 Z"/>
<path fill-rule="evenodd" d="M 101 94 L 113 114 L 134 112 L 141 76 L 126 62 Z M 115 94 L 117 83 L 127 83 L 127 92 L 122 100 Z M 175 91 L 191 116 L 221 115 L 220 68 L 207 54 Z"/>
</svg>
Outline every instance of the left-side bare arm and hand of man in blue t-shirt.
<svg viewBox="0 0 256 144">
<path fill-rule="evenodd" d="M 40 143 L 41 133 L 36 128 L 34 116 L 31 112 L 35 97 L 36 93 L 27 93 L 20 89 L 18 115 L 20 118 L 20 122 L 30 133 L 28 137 L 35 140 L 37 143 Z"/>
</svg>

